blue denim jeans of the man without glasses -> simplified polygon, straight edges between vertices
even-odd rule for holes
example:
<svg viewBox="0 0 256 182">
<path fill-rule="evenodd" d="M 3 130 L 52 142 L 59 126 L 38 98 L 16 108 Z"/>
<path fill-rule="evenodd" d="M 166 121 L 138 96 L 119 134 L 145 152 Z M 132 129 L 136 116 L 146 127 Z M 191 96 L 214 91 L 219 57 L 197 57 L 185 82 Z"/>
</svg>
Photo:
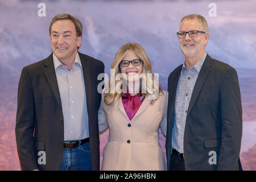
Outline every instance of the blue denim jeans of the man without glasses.
<svg viewBox="0 0 256 182">
<path fill-rule="evenodd" d="M 75 148 L 64 148 L 60 171 L 92 171 L 90 143 L 79 144 Z"/>
</svg>

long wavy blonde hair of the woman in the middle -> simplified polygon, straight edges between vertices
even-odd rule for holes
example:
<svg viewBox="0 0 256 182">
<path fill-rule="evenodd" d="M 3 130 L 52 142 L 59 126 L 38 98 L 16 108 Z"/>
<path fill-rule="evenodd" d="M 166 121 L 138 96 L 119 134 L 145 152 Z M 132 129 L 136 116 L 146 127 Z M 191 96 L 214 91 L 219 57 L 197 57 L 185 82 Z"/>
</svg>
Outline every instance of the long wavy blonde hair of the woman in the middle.
<svg viewBox="0 0 256 182">
<path fill-rule="evenodd" d="M 121 62 L 121 60 L 123 59 L 123 57 L 126 55 L 126 53 L 129 50 L 133 51 L 140 59 L 143 60 L 143 63 L 141 63 L 141 64 L 143 64 L 142 73 L 146 73 L 146 74 L 150 73 L 151 74 L 150 82 L 154 83 L 155 76 L 152 73 L 151 62 L 147 56 L 147 53 L 144 51 L 144 49 L 139 44 L 127 43 L 127 44 L 123 45 L 121 48 L 119 48 L 119 50 L 117 51 L 117 53 L 115 55 L 113 63 L 111 65 L 111 69 L 114 70 L 114 75 L 112 75 L 112 76 L 114 76 L 114 79 L 111 78 L 111 76 L 110 76 L 108 84 L 105 84 L 104 102 L 106 105 L 111 105 L 111 104 L 115 105 L 118 103 L 119 98 L 122 97 L 123 93 L 118 93 L 118 92 L 116 92 L 116 90 L 114 93 L 110 93 L 110 85 L 119 85 L 122 82 L 122 79 L 123 79 L 122 77 L 119 77 L 120 78 L 119 80 L 115 80 L 115 78 L 117 77 L 117 75 L 121 75 L 121 74 L 119 74 L 119 73 L 121 73 L 121 68 L 119 67 L 119 63 Z M 152 78 L 152 80 L 151 80 L 151 78 Z M 142 79 L 143 79 L 143 77 L 142 77 Z M 142 94 L 142 96 L 144 96 L 144 97 L 150 96 L 151 93 L 156 93 L 156 92 L 163 94 L 163 91 L 158 84 L 155 85 L 155 83 L 154 83 L 154 85 L 152 85 L 154 87 L 151 86 L 150 88 L 148 88 L 147 86 L 148 86 L 148 80 L 142 81 L 142 85 L 140 86 L 140 91 L 139 91 Z M 146 93 L 142 93 L 142 88 L 147 88 Z M 108 92 L 106 92 L 106 90 L 108 90 Z M 151 100 L 151 104 L 154 104 L 154 102 L 158 98 L 159 98 L 159 95 L 155 99 Z"/>
</svg>

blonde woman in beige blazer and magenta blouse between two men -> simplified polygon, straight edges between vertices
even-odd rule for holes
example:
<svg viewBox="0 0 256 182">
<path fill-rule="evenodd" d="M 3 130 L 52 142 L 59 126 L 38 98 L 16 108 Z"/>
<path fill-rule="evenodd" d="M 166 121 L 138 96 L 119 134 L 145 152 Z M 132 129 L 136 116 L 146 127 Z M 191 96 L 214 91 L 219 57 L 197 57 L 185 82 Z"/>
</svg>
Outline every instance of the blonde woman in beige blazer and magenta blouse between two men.
<svg viewBox="0 0 256 182">
<path fill-rule="evenodd" d="M 98 111 L 100 133 L 109 127 L 101 170 L 165 170 L 158 130 L 166 135 L 167 92 L 154 82 L 150 60 L 137 43 L 118 50 L 112 69 Z"/>
</svg>

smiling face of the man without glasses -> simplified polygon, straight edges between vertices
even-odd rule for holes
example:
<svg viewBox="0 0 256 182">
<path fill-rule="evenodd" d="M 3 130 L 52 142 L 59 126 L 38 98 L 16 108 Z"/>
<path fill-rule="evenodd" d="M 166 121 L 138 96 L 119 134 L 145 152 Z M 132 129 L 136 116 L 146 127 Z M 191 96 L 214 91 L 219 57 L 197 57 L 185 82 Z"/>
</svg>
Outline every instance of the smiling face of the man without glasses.
<svg viewBox="0 0 256 182">
<path fill-rule="evenodd" d="M 57 20 L 51 27 L 51 49 L 64 63 L 72 62 L 81 46 L 81 36 L 76 37 L 76 27 L 71 20 Z"/>
</svg>

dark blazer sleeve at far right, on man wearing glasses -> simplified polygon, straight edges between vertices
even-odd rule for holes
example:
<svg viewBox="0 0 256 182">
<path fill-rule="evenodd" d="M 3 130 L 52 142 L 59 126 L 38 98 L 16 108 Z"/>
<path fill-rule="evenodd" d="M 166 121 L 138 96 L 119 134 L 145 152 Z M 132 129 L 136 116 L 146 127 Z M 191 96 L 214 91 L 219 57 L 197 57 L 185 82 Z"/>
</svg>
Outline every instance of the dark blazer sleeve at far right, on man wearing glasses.
<svg viewBox="0 0 256 182">
<path fill-rule="evenodd" d="M 218 170 L 235 170 L 242 138 L 242 104 L 237 72 L 226 71 L 220 86 L 221 148 Z"/>
</svg>

